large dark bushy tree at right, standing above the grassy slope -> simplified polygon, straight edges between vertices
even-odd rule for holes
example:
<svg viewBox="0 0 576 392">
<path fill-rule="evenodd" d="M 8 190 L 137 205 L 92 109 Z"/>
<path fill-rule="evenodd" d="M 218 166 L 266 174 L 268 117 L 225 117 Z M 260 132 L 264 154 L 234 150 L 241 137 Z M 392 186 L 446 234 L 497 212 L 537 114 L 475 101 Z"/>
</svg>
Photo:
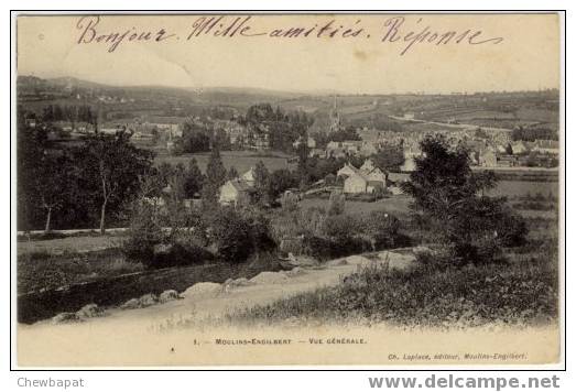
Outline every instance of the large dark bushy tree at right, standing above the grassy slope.
<svg viewBox="0 0 576 392">
<path fill-rule="evenodd" d="M 496 186 L 492 172 L 474 173 L 468 151 L 450 149 L 442 135 L 426 137 L 421 149 L 423 157 L 415 160 L 416 170 L 402 188 L 414 197 L 414 211 L 441 233 L 458 261 L 486 261 L 500 247 L 523 240 L 525 225 L 506 198 L 485 195 Z"/>
</svg>

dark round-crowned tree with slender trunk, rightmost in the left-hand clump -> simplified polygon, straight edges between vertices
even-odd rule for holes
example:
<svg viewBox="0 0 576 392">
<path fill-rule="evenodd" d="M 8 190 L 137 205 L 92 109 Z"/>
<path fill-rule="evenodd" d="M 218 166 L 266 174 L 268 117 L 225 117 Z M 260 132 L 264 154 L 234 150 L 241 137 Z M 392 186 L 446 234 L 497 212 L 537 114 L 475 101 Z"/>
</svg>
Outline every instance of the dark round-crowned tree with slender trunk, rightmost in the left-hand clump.
<svg viewBox="0 0 576 392">
<path fill-rule="evenodd" d="M 131 133 L 95 132 L 87 137 L 75 154 L 80 166 L 80 178 L 93 202 L 99 205 L 100 233 L 106 231 L 108 208 L 117 209 L 135 196 L 139 176 L 149 172 L 153 153 L 130 143 Z"/>
</svg>

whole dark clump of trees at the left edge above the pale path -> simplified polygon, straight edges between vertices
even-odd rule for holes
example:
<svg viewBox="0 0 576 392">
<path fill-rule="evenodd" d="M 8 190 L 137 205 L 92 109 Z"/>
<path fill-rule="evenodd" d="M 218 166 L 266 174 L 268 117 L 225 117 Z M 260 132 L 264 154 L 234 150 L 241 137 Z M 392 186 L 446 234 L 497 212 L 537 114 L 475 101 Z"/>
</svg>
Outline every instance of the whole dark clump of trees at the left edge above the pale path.
<svg viewBox="0 0 576 392">
<path fill-rule="evenodd" d="M 130 143 L 130 133 L 89 134 L 77 145 L 48 139 L 51 123 L 30 127 L 18 119 L 19 227 L 78 228 L 105 217 L 115 221 L 135 196 L 139 177 L 152 164 L 152 153 Z M 106 202 L 105 202 L 106 200 Z"/>
</svg>

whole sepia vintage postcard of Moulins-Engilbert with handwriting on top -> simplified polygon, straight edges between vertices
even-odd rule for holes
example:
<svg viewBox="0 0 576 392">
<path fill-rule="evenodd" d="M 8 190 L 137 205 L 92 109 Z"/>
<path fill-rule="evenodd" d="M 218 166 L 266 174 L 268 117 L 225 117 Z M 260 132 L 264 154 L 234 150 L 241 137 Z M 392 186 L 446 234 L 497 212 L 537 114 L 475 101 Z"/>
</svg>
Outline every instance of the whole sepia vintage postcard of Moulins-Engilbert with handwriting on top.
<svg viewBox="0 0 576 392">
<path fill-rule="evenodd" d="M 14 23 L 19 367 L 562 361 L 559 14 Z"/>
</svg>

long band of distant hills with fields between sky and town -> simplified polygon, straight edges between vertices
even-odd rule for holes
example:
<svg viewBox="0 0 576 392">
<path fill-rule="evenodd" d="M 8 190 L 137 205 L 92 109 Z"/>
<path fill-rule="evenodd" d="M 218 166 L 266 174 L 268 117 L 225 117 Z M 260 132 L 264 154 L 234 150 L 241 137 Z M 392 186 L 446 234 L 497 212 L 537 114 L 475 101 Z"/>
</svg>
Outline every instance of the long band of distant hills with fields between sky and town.
<svg viewBox="0 0 576 392">
<path fill-rule="evenodd" d="M 165 86 L 111 86 L 74 77 L 43 79 L 19 76 L 19 105 L 41 113 L 47 105 L 89 105 L 102 120 L 131 119 L 142 116 L 225 117 L 243 113 L 256 104 L 280 106 L 284 110 L 303 110 L 317 120 L 326 119 L 334 107 L 344 126 L 390 126 L 388 116 L 405 113 L 436 122 L 459 122 L 471 126 L 513 129 L 542 127 L 558 129 L 558 90 L 478 92 L 469 95 L 343 95 L 279 91 L 265 88 L 206 87 L 178 88 Z M 317 121 L 316 128 L 325 128 Z M 403 124 L 409 128 L 409 124 Z"/>
</svg>

